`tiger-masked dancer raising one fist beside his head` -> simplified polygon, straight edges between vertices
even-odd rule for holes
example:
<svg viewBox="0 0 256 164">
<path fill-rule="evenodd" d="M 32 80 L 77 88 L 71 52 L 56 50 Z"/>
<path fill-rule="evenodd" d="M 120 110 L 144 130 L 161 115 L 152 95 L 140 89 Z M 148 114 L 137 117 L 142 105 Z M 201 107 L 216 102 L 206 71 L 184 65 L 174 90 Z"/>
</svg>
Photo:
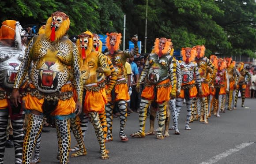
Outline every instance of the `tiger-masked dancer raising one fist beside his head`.
<svg viewBox="0 0 256 164">
<path fill-rule="evenodd" d="M 107 33 L 106 46 L 108 52 L 105 53 L 116 72 L 117 72 L 117 82 L 111 92 L 111 101 L 108 101 L 106 105 L 106 117 L 107 117 L 107 126 L 108 134 L 106 142 L 113 141 L 112 135 L 112 124 L 113 124 L 113 108 L 115 102 L 117 102 L 118 108 L 120 110 L 120 131 L 119 137 L 121 142 L 127 142 L 128 138 L 124 133 L 124 126 L 127 120 L 127 102 L 130 97 L 128 94 L 127 81 L 124 78 L 124 65 L 127 58 L 136 56 L 138 54 L 138 38 L 132 37 L 132 42 L 134 43 L 134 49 L 132 51 L 120 51 L 119 45 L 121 42 L 121 34 L 119 33 Z M 110 94 L 110 93 L 109 93 Z"/>
</svg>

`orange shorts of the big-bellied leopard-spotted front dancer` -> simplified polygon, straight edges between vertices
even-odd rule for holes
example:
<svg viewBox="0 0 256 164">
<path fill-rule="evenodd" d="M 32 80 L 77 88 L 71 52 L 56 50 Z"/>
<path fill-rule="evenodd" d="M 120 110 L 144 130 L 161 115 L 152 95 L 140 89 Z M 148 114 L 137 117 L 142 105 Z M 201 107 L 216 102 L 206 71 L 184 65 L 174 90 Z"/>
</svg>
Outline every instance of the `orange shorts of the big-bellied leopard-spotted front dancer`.
<svg viewBox="0 0 256 164">
<path fill-rule="evenodd" d="M 34 89 L 35 86 L 30 83 L 30 88 Z M 61 92 L 73 91 L 72 84 L 65 84 L 61 87 Z M 25 98 L 25 108 L 27 110 L 36 110 L 38 112 L 43 113 L 42 105 L 45 99 L 38 99 L 37 97 L 33 97 L 30 94 L 26 95 Z M 68 100 L 59 100 L 56 109 L 51 112 L 51 116 L 68 116 L 75 112 L 75 100 L 74 97 L 71 97 Z"/>
</svg>

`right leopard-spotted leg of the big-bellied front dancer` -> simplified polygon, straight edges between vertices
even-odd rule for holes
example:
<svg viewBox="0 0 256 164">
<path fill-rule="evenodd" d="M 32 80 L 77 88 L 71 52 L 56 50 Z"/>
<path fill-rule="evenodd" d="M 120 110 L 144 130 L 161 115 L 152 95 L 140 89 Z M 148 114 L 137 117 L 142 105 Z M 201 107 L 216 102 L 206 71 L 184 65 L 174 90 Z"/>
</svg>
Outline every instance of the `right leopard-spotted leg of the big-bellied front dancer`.
<svg viewBox="0 0 256 164">
<path fill-rule="evenodd" d="M 58 145 L 60 149 L 60 163 L 67 164 L 70 149 L 70 120 L 55 119 L 56 130 L 59 133 Z"/>
</svg>

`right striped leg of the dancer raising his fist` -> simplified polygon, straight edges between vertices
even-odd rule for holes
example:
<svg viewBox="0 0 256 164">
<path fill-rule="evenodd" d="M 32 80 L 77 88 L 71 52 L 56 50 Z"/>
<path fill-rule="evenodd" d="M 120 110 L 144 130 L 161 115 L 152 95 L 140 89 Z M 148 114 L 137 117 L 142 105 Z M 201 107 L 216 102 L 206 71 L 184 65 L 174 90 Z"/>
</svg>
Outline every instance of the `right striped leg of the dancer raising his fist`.
<svg viewBox="0 0 256 164">
<path fill-rule="evenodd" d="M 126 101 L 119 101 L 118 102 L 118 108 L 120 111 L 120 131 L 119 131 L 119 136 L 122 142 L 127 142 L 128 138 L 124 133 L 124 127 L 127 121 L 127 103 Z"/>
</svg>

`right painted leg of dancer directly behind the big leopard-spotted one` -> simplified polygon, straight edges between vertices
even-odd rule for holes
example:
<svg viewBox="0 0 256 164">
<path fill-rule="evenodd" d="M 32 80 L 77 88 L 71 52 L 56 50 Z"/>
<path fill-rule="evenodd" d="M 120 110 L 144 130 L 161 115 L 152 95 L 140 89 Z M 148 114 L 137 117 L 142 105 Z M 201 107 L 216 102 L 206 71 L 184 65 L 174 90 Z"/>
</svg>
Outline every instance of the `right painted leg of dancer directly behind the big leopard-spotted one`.
<svg viewBox="0 0 256 164">
<path fill-rule="evenodd" d="M 98 112 L 90 112 L 89 117 L 100 145 L 101 158 L 102 160 L 109 159 L 109 156 L 106 152 L 104 131 L 100 122 L 99 114 Z"/>
</svg>

